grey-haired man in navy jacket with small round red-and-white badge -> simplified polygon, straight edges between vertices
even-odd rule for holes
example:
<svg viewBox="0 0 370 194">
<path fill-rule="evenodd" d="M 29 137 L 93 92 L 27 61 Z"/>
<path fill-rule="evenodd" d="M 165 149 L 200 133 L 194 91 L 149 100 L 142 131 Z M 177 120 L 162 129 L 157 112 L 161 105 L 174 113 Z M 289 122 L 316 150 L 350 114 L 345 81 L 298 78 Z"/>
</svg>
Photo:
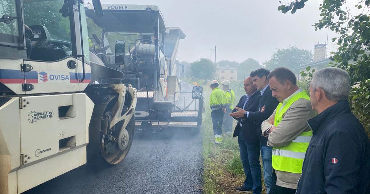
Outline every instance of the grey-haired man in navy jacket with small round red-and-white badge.
<svg viewBox="0 0 370 194">
<path fill-rule="evenodd" d="M 297 194 L 369 193 L 370 143 L 348 103 L 350 77 L 339 68 L 313 74 L 308 120 L 313 136 L 306 151 Z"/>
</svg>

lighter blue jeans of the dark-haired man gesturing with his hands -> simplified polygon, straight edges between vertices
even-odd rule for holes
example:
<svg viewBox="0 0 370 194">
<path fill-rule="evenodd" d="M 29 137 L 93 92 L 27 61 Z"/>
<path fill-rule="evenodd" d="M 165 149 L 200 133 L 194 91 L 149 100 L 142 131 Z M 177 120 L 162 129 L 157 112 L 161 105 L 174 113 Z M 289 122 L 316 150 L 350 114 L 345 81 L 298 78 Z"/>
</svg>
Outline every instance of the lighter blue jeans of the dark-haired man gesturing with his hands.
<svg viewBox="0 0 370 194">
<path fill-rule="evenodd" d="M 263 164 L 263 178 L 269 193 L 272 185 L 272 147 L 261 145 L 261 158 Z"/>
</svg>

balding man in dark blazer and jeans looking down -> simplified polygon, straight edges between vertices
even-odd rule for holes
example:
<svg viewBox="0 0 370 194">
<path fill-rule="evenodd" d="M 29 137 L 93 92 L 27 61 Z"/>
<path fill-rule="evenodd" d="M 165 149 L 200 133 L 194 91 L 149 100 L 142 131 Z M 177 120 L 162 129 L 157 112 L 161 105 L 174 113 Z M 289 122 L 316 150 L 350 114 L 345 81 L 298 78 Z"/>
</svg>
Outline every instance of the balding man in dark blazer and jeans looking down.
<svg viewBox="0 0 370 194">
<path fill-rule="evenodd" d="M 238 105 L 232 112 L 236 112 L 238 109 L 255 111 L 258 108 L 261 95 L 253 86 L 251 77 L 244 80 L 244 90 L 246 95 L 240 98 Z M 232 116 L 232 113 L 230 115 Z M 235 187 L 235 189 L 242 192 L 253 191 L 255 194 L 260 194 L 262 183 L 261 166 L 259 164 L 260 144 L 257 137 L 258 126 L 249 119 L 238 118 L 236 120 L 238 124 L 236 124 L 233 137 L 238 136 L 240 159 L 243 163 L 245 181 L 242 186 Z"/>
</svg>

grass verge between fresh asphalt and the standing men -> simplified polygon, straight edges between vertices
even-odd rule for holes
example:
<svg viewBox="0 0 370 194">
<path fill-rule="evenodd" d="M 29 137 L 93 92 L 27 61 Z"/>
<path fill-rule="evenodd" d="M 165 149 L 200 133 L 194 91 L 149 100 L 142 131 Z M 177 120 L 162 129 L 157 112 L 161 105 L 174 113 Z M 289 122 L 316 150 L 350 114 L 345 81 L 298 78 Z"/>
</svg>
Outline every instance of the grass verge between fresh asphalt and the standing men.
<svg viewBox="0 0 370 194">
<path fill-rule="evenodd" d="M 214 135 L 209 109 L 210 89 L 203 87 L 204 107 L 203 123 L 201 128 L 203 138 L 203 193 L 204 194 L 232 194 L 238 193 L 235 186 L 243 184 L 245 175 L 240 161 L 237 138 L 222 135 L 222 144 L 214 144 Z M 234 125 L 236 122 L 234 121 Z M 263 185 L 263 181 L 262 181 Z M 266 194 L 262 187 L 262 194 Z"/>
</svg>

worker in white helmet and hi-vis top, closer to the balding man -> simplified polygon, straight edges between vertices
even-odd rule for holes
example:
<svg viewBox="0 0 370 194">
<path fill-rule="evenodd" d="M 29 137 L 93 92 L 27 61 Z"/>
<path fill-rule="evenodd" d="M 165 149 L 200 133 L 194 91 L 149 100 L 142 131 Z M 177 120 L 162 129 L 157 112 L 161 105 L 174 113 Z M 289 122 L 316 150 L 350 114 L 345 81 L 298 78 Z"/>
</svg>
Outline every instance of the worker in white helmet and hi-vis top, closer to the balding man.
<svg viewBox="0 0 370 194">
<path fill-rule="evenodd" d="M 230 81 L 225 79 L 221 82 L 222 90 L 226 95 L 226 116 L 223 121 L 223 128 L 226 134 L 232 134 L 232 117 L 229 114 L 234 109 L 235 93 L 230 89 Z"/>
</svg>

